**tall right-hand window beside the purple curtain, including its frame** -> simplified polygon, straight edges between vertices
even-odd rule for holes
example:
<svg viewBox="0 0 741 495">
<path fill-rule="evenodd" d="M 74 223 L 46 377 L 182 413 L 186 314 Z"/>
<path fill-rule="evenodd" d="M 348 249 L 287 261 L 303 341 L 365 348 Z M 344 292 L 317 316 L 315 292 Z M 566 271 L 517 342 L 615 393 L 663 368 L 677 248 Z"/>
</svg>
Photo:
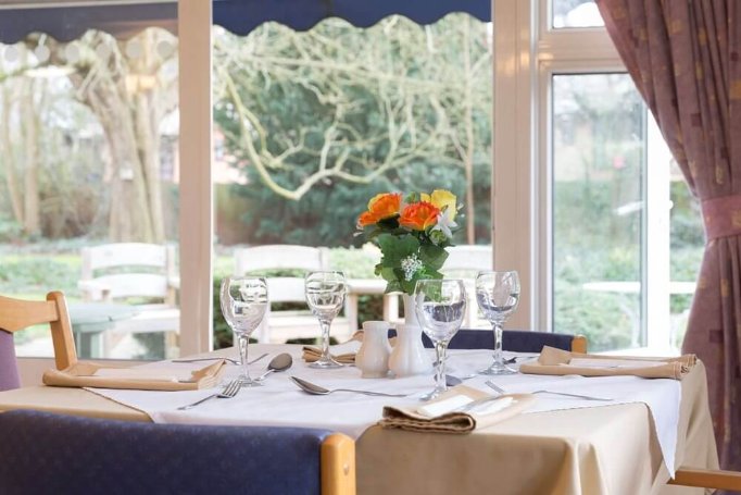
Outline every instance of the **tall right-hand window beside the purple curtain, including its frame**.
<svg viewBox="0 0 741 495">
<path fill-rule="evenodd" d="M 506 15 L 513 7 L 504 2 L 501 9 Z M 520 248 L 531 246 L 526 260 L 494 239 L 498 265 L 516 265 L 532 287 L 524 308 L 529 321 L 520 324 L 586 334 L 598 351 L 676 351 L 702 255 L 696 206 L 593 16 L 593 2 L 552 0 L 531 8 L 516 11 L 508 32 L 514 48 L 507 54 L 528 57 L 519 55 L 514 76 L 497 75 L 500 86 L 513 79 L 529 88 L 510 89 L 497 100 L 518 91 L 516 127 L 530 136 L 527 144 L 495 136 L 505 146 L 500 153 L 527 170 L 517 172 L 526 178 L 506 169 L 495 174 L 501 181 L 511 173 L 524 185 L 495 197 L 494 210 L 507 203 L 529 212 L 510 226 L 494 222 Z M 535 42 L 525 46 L 517 33 L 532 25 L 541 27 L 529 30 Z"/>
</svg>

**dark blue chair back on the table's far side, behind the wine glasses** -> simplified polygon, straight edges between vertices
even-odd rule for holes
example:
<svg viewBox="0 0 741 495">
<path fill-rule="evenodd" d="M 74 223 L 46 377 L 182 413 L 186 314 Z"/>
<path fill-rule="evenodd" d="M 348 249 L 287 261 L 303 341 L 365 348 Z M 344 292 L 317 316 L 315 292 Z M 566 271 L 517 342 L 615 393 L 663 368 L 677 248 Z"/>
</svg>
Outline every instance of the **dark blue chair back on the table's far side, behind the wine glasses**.
<svg viewBox="0 0 741 495">
<path fill-rule="evenodd" d="M 434 347 L 432 341 L 422 335 L 425 347 Z M 514 352 L 540 352 L 543 346 L 556 347 L 577 352 L 587 351 L 587 339 L 582 336 L 551 332 L 528 332 L 505 330 L 502 333 L 502 349 Z M 490 330 L 460 330 L 450 341 L 449 349 L 493 349 L 494 333 Z"/>
</svg>

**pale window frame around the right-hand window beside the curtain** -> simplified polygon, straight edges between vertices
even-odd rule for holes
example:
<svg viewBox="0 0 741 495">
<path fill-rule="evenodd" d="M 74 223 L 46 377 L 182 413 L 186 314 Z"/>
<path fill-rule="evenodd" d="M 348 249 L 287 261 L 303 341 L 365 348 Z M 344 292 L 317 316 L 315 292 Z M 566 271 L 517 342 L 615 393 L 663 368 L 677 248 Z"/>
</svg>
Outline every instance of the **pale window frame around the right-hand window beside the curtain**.
<svg viewBox="0 0 741 495">
<path fill-rule="evenodd" d="M 541 331 L 553 331 L 552 76 L 626 72 L 604 27 L 551 28 L 550 7 L 551 0 L 492 0 L 494 267 L 515 269 L 523 281 L 520 306 L 507 326 Z M 655 125 L 649 126 L 650 136 L 656 132 Z M 646 159 L 652 158 L 649 149 Z M 650 283 L 642 292 L 642 331 L 646 348 L 665 351 L 669 348 L 668 170 L 646 169 L 641 279 Z"/>
</svg>

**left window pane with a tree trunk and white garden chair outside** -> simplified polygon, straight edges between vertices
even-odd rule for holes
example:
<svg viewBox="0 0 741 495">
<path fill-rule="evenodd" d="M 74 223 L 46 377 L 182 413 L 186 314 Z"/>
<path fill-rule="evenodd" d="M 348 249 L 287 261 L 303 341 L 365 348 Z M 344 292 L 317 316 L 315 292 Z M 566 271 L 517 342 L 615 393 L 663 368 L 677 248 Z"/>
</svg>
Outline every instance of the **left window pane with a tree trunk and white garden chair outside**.
<svg viewBox="0 0 741 495">
<path fill-rule="evenodd" d="M 177 39 L 32 34 L 0 74 L 0 293 L 63 290 L 80 357 L 177 355 Z M 48 327 L 15 341 L 53 355 Z"/>
</svg>

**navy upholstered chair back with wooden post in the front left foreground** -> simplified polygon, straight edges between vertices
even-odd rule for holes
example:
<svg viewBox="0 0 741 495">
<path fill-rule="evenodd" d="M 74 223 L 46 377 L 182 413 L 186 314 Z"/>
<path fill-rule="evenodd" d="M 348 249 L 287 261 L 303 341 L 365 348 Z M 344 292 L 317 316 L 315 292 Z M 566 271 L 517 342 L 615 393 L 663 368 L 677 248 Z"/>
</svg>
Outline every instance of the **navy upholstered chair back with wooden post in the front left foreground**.
<svg viewBox="0 0 741 495">
<path fill-rule="evenodd" d="M 354 494 L 354 442 L 326 430 L 0 413 L 0 493 Z"/>
</svg>

